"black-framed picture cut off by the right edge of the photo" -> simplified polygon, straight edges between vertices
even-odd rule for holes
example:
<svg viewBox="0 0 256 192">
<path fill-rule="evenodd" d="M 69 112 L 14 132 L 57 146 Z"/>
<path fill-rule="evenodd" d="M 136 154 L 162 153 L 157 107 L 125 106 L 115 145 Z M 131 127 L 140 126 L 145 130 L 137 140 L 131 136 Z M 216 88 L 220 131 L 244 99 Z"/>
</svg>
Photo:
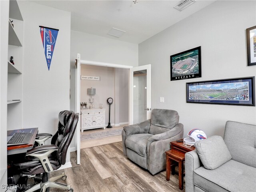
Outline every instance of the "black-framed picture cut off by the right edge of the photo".
<svg viewBox="0 0 256 192">
<path fill-rule="evenodd" d="M 256 65 L 256 26 L 246 29 L 247 65 Z"/>
</svg>

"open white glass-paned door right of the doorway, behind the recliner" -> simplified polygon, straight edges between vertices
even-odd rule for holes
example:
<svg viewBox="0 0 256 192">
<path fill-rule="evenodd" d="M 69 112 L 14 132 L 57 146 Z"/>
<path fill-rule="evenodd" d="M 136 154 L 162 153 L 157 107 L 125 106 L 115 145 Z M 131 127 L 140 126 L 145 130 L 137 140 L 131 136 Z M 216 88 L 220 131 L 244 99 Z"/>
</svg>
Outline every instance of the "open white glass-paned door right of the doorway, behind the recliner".
<svg viewBox="0 0 256 192">
<path fill-rule="evenodd" d="M 150 119 L 151 65 L 130 68 L 129 124 Z"/>
</svg>

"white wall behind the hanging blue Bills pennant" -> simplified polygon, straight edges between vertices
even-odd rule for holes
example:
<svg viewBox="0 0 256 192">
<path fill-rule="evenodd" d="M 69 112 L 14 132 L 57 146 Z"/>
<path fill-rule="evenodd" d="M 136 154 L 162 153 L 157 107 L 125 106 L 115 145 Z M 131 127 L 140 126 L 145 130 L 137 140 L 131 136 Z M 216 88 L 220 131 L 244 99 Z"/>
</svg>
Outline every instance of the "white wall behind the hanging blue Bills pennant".
<svg viewBox="0 0 256 192">
<path fill-rule="evenodd" d="M 23 128 L 38 127 L 40 133 L 54 134 L 59 112 L 70 108 L 70 12 L 29 1 L 20 1 L 20 10 L 24 19 Z M 49 71 L 39 26 L 59 29 Z"/>
</svg>

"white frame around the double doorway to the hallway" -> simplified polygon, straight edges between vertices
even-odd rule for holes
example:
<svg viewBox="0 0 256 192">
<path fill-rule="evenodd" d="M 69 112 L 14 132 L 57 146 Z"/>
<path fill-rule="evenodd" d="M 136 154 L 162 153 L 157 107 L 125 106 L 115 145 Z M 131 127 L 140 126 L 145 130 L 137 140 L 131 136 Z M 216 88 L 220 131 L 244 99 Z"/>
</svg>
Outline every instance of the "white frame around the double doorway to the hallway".
<svg viewBox="0 0 256 192">
<path fill-rule="evenodd" d="M 80 54 L 77 54 L 77 61 L 81 64 L 85 64 L 85 65 L 96 65 L 96 66 L 105 66 L 105 67 L 113 67 L 113 68 L 124 68 L 124 69 L 129 69 L 129 73 L 130 73 L 130 69 L 134 68 L 133 66 L 128 66 L 128 65 L 120 65 L 120 64 L 112 64 L 112 63 L 104 63 L 104 62 L 95 62 L 95 61 L 88 61 L 88 60 L 81 60 L 80 59 Z M 76 69 L 77 70 L 77 69 Z M 129 76 L 130 77 L 130 76 Z M 77 103 L 80 103 L 80 81 L 81 78 L 80 77 L 76 77 L 76 79 L 78 80 L 78 84 L 79 84 L 79 99 L 77 101 Z M 129 82 L 129 87 L 130 87 L 130 78 L 128 79 Z M 76 82 L 77 84 L 77 82 Z M 128 90 L 128 94 L 130 96 L 130 89 Z M 77 98 L 77 96 L 76 96 Z M 129 106 L 130 106 L 130 99 L 129 99 Z M 78 109 L 79 114 L 80 114 L 80 108 Z M 80 116 L 79 116 L 80 117 Z M 129 123 L 130 123 L 130 107 L 129 107 Z M 76 129 L 76 148 L 77 148 L 77 164 L 80 164 L 80 124 L 78 125 L 79 128 Z"/>
</svg>

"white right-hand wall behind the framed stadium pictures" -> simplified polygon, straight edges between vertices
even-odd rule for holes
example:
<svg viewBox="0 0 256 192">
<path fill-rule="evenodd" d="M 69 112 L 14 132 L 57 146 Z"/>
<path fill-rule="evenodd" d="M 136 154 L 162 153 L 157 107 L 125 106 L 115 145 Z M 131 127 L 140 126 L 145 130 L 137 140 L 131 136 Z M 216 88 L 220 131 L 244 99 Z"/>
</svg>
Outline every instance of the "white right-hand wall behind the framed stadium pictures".
<svg viewBox="0 0 256 192">
<path fill-rule="evenodd" d="M 256 124 L 254 106 L 186 103 L 186 82 L 256 75 L 246 57 L 246 28 L 256 25 L 255 7 L 255 1 L 216 1 L 139 44 L 139 65 L 152 64 L 152 109 L 177 110 L 184 137 L 193 128 L 223 136 L 227 120 Z M 170 81 L 170 55 L 197 46 L 202 78 Z"/>
</svg>

